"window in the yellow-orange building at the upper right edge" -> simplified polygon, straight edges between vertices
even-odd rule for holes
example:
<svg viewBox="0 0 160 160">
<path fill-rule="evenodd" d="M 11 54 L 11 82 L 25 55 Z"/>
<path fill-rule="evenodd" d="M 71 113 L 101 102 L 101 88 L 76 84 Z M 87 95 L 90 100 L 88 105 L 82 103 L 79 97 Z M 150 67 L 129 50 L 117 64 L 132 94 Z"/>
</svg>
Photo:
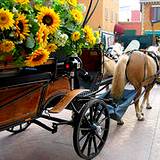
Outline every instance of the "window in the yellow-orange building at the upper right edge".
<svg viewBox="0 0 160 160">
<path fill-rule="evenodd" d="M 151 20 L 152 21 L 160 20 L 160 6 L 152 6 L 152 8 L 151 8 Z"/>
</svg>

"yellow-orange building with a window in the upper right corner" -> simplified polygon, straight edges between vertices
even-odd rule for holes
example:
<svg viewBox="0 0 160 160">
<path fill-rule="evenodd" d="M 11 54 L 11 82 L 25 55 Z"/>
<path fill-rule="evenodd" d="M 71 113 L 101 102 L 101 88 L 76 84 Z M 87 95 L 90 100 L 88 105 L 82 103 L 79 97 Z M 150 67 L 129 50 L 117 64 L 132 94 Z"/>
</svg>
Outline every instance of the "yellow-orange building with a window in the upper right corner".
<svg viewBox="0 0 160 160">
<path fill-rule="evenodd" d="M 160 0 L 140 0 L 142 34 L 160 36 Z"/>
</svg>

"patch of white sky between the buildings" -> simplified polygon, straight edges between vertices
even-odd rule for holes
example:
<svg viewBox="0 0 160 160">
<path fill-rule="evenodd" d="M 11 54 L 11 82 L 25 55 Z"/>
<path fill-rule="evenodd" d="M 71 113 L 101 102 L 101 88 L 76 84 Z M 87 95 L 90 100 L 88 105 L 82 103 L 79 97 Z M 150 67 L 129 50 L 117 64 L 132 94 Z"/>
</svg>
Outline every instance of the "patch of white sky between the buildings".
<svg viewBox="0 0 160 160">
<path fill-rule="evenodd" d="M 131 10 L 139 10 L 139 0 L 119 0 L 119 21 L 127 21 L 131 17 Z"/>
</svg>

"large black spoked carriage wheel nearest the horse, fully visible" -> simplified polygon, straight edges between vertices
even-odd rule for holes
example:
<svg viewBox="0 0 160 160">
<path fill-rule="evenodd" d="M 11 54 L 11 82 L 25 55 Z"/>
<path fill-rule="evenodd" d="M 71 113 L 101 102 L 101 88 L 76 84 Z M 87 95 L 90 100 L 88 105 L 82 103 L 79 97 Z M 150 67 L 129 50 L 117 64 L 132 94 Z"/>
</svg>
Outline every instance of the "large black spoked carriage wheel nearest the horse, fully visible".
<svg viewBox="0 0 160 160">
<path fill-rule="evenodd" d="M 92 159 L 99 154 L 107 140 L 110 123 L 108 109 L 103 101 L 90 100 L 74 120 L 75 151 L 84 159 Z"/>
</svg>

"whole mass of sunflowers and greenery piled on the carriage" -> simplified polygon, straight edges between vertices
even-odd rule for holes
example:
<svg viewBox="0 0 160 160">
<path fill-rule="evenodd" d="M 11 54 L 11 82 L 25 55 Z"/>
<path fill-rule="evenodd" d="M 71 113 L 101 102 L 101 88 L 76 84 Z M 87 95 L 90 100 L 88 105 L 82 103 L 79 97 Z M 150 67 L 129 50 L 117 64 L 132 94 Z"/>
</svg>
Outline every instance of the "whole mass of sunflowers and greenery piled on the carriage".
<svg viewBox="0 0 160 160">
<path fill-rule="evenodd" d="M 0 0 L 0 61 L 33 67 L 93 47 L 99 35 L 82 27 L 84 11 L 77 0 Z"/>
</svg>

